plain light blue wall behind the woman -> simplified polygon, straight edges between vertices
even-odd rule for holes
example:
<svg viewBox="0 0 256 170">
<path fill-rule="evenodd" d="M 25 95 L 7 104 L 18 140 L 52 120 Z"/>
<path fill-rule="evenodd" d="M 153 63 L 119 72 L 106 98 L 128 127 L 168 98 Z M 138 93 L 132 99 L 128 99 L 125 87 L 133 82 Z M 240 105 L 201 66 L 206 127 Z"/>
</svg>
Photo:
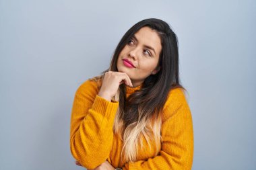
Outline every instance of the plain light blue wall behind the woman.
<svg viewBox="0 0 256 170">
<path fill-rule="evenodd" d="M 75 91 L 149 17 L 179 38 L 193 169 L 256 169 L 255 10 L 253 0 L 0 0 L 0 169 L 83 169 L 69 151 Z"/>
</svg>

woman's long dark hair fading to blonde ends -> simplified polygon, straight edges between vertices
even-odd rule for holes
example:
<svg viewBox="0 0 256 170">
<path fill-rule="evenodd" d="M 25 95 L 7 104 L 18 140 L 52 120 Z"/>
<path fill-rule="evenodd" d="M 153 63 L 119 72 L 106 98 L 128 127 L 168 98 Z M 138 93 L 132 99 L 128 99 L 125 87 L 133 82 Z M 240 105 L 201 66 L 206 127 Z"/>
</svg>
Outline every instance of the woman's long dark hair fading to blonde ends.
<svg viewBox="0 0 256 170">
<path fill-rule="evenodd" d="M 127 45 L 133 35 L 143 27 L 149 27 L 156 31 L 161 40 L 162 50 L 160 52 L 158 66 L 160 71 L 155 75 L 148 76 L 141 89 L 126 97 L 125 84 L 119 86 L 119 90 L 113 100 L 119 101 L 119 109 L 115 117 L 113 130 L 123 140 L 122 155 L 125 162 L 136 161 L 139 147 L 142 148 L 142 138 L 146 138 L 156 144 L 158 155 L 161 144 L 160 128 L 162 124 L 162 112 L 164 103 L 171 89 L 181 87 L 179 81 L 179 52 L 176 34 L 168 24 L 160 19 L 144 19 L 132 26 L 121 38 L 117 45 L 110 67 L 102 72 L 94 80 L 102 82 L 104 73 L 107 71 L 118 71 L 117 59 L 121 50 Z M 98 85 L 100 88 L 101 84 Z M 124 151 L 124 153 L 123 153 Z"/>
</svg>

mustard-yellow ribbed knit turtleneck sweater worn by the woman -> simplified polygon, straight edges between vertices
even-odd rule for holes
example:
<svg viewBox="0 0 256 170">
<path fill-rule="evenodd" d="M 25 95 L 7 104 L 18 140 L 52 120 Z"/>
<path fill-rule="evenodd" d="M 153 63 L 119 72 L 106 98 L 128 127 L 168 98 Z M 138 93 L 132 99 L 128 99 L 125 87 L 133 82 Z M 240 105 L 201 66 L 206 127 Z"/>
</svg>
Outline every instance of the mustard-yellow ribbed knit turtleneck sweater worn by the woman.
<svg viewBox="0 0 256 170">
<path fill-rule="evenodd" d="M 127 97 L 138 87 L 127 87 Z M 193 126 L 191 111 L 183 91 L 172 89 L 164 104 L 161 149 L 156 157 L 147 145 L 139 150 L 138 161 L 121 162 L 122 141 L 113 133 L 119 103 L 98 96 L 96 82 L 85 81 L 75 93 L 71 113 L 70 149 L 73 157 L 87 169 L 104 161 L 115 168 L 191 169 Z M 144 141 L 146 143 L 146 141 Z M 153 145 L 152 145 L 153 146 Z"/>
</svg>

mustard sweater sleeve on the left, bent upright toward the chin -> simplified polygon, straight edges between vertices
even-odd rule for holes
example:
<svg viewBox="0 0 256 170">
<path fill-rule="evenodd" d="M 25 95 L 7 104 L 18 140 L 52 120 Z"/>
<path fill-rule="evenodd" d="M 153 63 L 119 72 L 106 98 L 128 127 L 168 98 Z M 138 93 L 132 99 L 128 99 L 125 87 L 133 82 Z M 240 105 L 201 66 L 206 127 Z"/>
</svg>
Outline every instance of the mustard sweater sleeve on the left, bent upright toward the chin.
<svg viewBox="0 0 256 170">
<path fill-rule="evenodd" d="M 97 94 L 96 85 L 86 81 L 77 89 L 71 111 L 71 154 L 87 169 L 94 169 L 108 158 L 119 106 Z"/>
</svg>

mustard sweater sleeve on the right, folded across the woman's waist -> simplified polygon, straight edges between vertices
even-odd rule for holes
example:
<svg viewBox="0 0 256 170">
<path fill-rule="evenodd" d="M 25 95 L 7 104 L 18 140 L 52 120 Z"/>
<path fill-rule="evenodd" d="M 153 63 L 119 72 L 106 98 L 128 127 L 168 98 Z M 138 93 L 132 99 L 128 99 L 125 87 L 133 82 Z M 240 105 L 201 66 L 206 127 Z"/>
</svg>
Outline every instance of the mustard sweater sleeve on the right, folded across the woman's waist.
<svg viewBox="0 0 256 170">
<path fill-rule="evenodd" d="M 128 162 L 124 170 L 191 169 L 193 162 L 193 125 L 189 105 L 181 89 L 173 89 L 163 113 L 162 145 L 158 156 L 147 161 Z"/>
</svg>

